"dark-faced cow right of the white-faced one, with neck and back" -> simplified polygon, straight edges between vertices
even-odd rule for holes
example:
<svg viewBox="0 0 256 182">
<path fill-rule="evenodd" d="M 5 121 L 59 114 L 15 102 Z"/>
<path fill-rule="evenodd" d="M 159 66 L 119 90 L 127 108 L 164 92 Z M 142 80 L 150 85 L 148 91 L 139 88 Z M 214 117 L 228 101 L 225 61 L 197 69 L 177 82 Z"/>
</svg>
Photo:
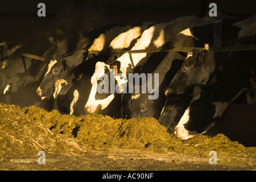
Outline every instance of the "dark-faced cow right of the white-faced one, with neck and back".
<svg viewBox="0 0 256 182">
<path fill-rule="evenodd" d="M 155 43 L 158 42 L 159 44 L 159 42 L 161 42 L 161 39 L 165 39 L 171 42 L 171 47 L 194 47 L 195 38 L 191 34 L 189 29 L 186 29 L 184 31 L 181 30 L 183 30 L 183 28 L 202 26 L 205 24 L 218 22 L 220 22 L 219 19 L 209 19 L 209 17 L 202 19 L 198 18 L 197 16 L 185 16 L 182 18 L 178 18 L 171 22 L 171 25 L 161 30 L 161 33 L 159 35 L 160 39 L 157 39 Z M 161 59 L 161 57 L 158 57 L 158 59 Z M 184 56 L 180 55 L 178 52 L 171 51 L 165 56 L 163 61 L 152 72 L 153 76 L 155 73 L 159 74 L 159 97 L 156 100 L 149 100 L 149 93 L 125 94 L 125 96 L 123 96 L 123 108 L 125 112 L 125 117 L 127 118 L 126 115 L 130 114 L 131 117 L 135 118 L 158 118 L 166 100 L 165 94 L 163 94 L 163 90 L 166 88 L 167 85 L 169 85 L 170 80 L 181 67 L 183 60 L 185 60 Z M 154 82 L 152 84 L 154 85 Z"/>
</svg>

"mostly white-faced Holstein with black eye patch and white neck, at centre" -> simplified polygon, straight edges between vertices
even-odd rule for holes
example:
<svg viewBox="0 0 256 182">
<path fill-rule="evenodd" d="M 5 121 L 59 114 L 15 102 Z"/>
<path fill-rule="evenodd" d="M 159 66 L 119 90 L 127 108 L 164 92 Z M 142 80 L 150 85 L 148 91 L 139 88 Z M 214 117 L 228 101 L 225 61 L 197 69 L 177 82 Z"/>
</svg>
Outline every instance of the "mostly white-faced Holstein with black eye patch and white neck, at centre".
<svg viewBox="0 0 256 182">
<path fill-rule="evenodd" d="M 154 48 L 154 41 L 158 38 L 159 31 L 168 24 L 170 22 L 155 24 L 145 30 L 131 50 Z M 123 92 L 123 89 L 125 89 L 123 85 L 127 84 L 129 73 L 133 73 L 135 67 L 144 65 L 151 55 L 152 53 L 125 53 L 111 64 L 98 62 L 95 65 L 94 75 L 91 77 L 93 86 L 85 106 L 86 111 L 94 113 L 105 109 L 118 93 Z M 108 89 L 110 84 L 112 86 L 111 90 Z M 98 87 L 105 89 L 106 92 L 99 93 Z M 115 92 L 116 90 L 117 92 Z"/>
</svg>

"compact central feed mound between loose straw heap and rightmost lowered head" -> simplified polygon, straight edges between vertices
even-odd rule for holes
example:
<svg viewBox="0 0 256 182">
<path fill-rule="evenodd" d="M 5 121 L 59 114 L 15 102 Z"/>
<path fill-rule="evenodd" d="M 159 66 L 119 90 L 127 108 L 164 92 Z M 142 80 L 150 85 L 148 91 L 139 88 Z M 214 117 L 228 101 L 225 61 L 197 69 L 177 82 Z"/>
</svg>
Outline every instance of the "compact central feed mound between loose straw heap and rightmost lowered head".
<svg viewBox="0 0 256 182">
<path fill-rule="evenodd" d="M 88 147 L 164 148 L 171 143 L 181 143 L 166 132 L 154 118 L 113 119 L 100 114 L 81 117 L 47 112 L 38 107 L 22 109 L 28 117 L 43 124 L 53 133 L 76 138 Z"/>
</svg>

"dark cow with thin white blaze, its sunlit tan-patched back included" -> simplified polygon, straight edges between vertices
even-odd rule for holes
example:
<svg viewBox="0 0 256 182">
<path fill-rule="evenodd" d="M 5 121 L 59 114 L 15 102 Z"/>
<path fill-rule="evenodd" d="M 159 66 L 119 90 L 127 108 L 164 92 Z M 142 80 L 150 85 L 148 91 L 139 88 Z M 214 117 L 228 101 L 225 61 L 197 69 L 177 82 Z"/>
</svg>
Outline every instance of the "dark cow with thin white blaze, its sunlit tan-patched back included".
<svg viewBox="0 0 256 182">
<path fill-rule="evenodd" d="M 85 48 L 87 51 L 106 51 L 107 47 L 112 39 L 115 38 L 121 32 L 128 30 L 130 26 L 117 26 L 110 30 L 106 30 L 105 33 L 98 35 L 96 39 L 93 40 L 93 44 L 89 48 Z M 96 31 L 98 33 L 98 30 Z M 69 41 L 70 40 L 70 41 Z M 80 43 L 78 42 L 80 41 Z M 61 52 L 57 52 L 50 59 L 47 72 L 43 77 L 41 84 L 37 89 L 37 94 L 42 100 L 52 98 L 54 92 L 54 84 L 57 80 L 64 79 L 73 72 L 74 68 L 81 64 L 83 61 L 89 60 L 94 54 L 79 52 L 78 48 L 81 48 L 81 36 L 73 36 L 70 38 L 63 39 L 59 49 Z M 83 43 L 85 45 L 86 43 Z M 69 48 L 70 47 L 70 48 Z M 77 51 L 77 52 L 75 52 Z M 71 55 L 64 56 L 65 53 L 71 52 Z M 106 55 L 105 59 L 109 57 Z"/>
</svg>

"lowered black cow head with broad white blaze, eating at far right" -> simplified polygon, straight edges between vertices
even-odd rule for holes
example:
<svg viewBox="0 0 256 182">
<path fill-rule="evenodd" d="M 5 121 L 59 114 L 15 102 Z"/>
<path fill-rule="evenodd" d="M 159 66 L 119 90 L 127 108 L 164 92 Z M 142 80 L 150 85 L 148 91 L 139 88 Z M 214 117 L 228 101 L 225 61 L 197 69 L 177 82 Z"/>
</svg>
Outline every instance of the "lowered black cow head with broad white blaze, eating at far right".
<svg viewBox="0 0 256 182">
<path fill-rule="evenodd" d="M 210 102 L 204 89 L 194 88 L 194 97 L 174 129 L 174 135 L 182 140 L 203 134 L 214 126 L 228 105 L 227 102 Z"/>
</svg>

